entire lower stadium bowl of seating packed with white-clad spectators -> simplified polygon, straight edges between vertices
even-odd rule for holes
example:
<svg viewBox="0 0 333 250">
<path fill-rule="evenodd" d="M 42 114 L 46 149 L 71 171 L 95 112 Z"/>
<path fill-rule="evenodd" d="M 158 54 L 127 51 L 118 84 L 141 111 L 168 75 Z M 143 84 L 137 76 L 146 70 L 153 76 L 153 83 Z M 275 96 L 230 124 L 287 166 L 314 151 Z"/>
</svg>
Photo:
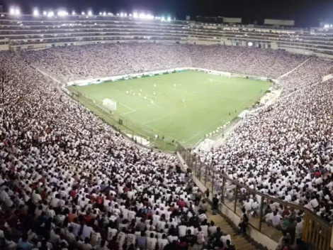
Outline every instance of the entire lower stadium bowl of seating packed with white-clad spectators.
<svg viewBox="0 0 333 250">
<path fill-rule="evenodd" d="M 181 249 L 221 247 L 228 238 L 208 224 L 203 194 L 174 155 L 128 141 L 30 65 L 64 80 L 189 65 L 278 78 L 300 65 L 279 79 L 278 102 L 198 158 L 333 221 L 333 82 L 321 82 L 332 62 L 256 48 L 128 43 L 6 52 L 0 65 L 1 246 Z"/>
</svg>

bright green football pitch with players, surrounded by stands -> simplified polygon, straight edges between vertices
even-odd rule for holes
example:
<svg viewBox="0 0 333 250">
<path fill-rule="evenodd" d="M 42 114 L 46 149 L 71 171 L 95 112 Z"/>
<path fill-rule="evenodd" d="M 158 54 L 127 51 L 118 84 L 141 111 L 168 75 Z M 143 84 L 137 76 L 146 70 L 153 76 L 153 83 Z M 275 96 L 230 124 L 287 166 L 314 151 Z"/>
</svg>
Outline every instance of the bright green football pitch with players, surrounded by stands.
<svg viewBox="0 0 333 250">
<path fill-rule="evenodd" d="M 121 117 L 124 126 L 131 124 L 138 134 L 193 145 L 251 107 L 269 86 L 269 82 L 186 71 L 69 90 L 99 107 L 106 98 L 118 102 L 113 116 Z"/>
</svg>

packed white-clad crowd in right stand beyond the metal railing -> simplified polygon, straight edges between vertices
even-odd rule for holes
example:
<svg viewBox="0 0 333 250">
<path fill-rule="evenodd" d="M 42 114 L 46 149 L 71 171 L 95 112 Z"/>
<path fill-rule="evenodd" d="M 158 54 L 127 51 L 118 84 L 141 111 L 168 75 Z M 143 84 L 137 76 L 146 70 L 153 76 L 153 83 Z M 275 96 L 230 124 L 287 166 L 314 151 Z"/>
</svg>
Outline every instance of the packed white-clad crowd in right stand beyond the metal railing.
<svg viewBox="0 0 333 250">
<path fill-rule="evenodd" d="M 333 81 L 322 82 L 332 66 L 331 61 L 310 58 L 279 80 L 283 92 L 276 104 L 244 119 L 222 146 L 198 153 L 201 161 L 213 165 L 215 183 L 222 185 L 223 173 L 333 224 Z M 228 184 L 224 192 L 232 200 L 235 186 Z M 256 216 L 261 200 L 243 196 L 242 204 Z M 291 207 L 274 203 L 262 215 L 279 229 L 298 224 Z"/>
</svg>

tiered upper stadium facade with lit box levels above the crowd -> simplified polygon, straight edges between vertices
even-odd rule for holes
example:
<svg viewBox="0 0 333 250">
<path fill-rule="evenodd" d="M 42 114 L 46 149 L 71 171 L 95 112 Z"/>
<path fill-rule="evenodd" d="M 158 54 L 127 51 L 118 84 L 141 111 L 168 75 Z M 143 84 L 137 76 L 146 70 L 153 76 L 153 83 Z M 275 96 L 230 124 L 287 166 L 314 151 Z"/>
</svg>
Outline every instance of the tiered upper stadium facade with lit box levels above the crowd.
<svg viewBox="0 0 333 250">
<path fill-rule="evenodd" d="M 287 50 L 333 58 L 333 28 L 162 21 L 130 16 L 15 16 L 0 13 L 0 50 L 91 43 L 192 43 Z"/>
</svg>

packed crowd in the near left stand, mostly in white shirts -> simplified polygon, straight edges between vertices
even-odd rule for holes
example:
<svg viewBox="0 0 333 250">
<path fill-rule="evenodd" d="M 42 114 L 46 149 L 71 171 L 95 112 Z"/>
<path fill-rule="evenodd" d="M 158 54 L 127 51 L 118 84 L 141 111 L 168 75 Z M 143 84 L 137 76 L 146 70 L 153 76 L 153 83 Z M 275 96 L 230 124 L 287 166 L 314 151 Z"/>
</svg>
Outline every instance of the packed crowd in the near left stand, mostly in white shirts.
<svg viewBox="0 0 333 250">
<path fill-rule="evenodd" d="M 232 249 L 174 155 L 141 148 L 1 53 L 0 249 Z"/>
</svg>

